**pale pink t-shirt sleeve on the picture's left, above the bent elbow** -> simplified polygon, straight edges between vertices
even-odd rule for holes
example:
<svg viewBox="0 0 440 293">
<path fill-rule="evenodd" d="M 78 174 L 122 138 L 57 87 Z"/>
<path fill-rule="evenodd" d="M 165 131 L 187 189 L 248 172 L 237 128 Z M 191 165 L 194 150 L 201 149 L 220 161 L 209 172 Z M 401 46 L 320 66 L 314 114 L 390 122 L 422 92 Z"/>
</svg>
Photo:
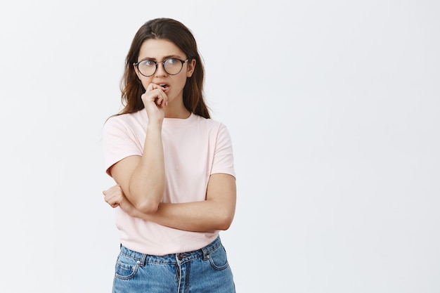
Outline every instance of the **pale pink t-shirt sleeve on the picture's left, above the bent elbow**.
<svg viewBox="0 0 440 293">
<path fill-rule="evenodd" d="M 118 117 L 112 117 L 105 122 L 103 128 L 103 148 L 105 173 L 110 176 L 110 167 L 125 157 L 142 155 L 136 136 L 126 123 Z"/>
</svg>

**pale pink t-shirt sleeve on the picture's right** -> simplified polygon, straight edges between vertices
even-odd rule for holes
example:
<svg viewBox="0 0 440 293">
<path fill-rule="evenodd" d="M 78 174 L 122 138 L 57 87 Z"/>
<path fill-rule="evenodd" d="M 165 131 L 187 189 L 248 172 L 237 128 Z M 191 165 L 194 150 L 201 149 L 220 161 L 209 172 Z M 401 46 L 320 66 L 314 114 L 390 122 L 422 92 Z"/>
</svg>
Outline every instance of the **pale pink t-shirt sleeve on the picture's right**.
<svg viewBox="0 0 440 293">
<path fill-rule="evenodd" d="M 220 124 L 216 136 L 211 174 L 216 173 L 230 174 L 235 177 L 231 136 L 224 124 Z"/>
</svg>

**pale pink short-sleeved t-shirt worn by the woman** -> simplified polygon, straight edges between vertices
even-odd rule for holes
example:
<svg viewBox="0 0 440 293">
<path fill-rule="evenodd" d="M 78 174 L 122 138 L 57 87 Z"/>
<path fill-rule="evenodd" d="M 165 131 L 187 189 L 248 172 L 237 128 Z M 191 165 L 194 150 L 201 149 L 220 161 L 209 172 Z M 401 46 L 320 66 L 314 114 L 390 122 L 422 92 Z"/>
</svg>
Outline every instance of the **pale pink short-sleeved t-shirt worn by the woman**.
<svg viewBox="0 0 440 293">
<path fill-rule="evenodd" d="M 111 117 L 103 129 L 105 171 L 124 157 L 142 155 L 148 116 L 145 110 Z M 209 176 L 235 176 L 231 138 L 224 124 L 191 114 L 162 124 L 165 190 L 162 202 L 205 200 Z M 190 252 L 214 241 L 219 230 L 189 232 L 137 219 L 116 209 L 116 226 L 125 247 L 143 254 Z"/>
</svg>

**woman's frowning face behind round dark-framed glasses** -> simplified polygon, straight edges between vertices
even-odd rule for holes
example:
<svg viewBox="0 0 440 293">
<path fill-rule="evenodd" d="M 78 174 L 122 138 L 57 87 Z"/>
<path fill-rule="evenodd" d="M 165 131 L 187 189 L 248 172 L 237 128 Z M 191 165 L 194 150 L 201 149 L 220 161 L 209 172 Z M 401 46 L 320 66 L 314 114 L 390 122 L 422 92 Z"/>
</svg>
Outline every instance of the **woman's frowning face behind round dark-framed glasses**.
<svg viewBox="0 0 440 293">
<path fill-rule="evenodd" d="M 150 77 L 145 77 L 138 71 L 136 66 L 134 69 L 144 89 L 147 89 L 150 83 L 162 86 L 164 93 L 167 94 L 169 105 L 176 104 L 176 102 L 183 105 L 183 87 L 186 84 L 186 79 L 193 75 L 195 60 L 188 60 L 188 62 L 183 63 L 181 72 L 171 75 L 164 70 L 162 63 L 167 58 L 186 60 L 188 56 L 172 41 L 167 39 L 148 39 L 143 42 L 139 50 L 138 62 L 153 60 L 157 62 L 157 70 Z M 180 63 L 180 61 L 177 61 L 177 63 Z M 154 63 L 152 64 L 154 66 Z"/>
</svg>

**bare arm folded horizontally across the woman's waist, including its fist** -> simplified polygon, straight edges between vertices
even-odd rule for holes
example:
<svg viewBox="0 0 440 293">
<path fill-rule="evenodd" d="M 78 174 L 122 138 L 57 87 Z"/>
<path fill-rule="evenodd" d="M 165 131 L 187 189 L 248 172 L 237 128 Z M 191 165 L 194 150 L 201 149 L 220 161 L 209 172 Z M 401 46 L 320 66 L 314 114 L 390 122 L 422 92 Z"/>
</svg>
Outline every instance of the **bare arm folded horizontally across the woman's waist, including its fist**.
<svg viewBox="0 0 440 293">
<path fill-rule="evenodd" d="M 155 214 L 145 214 L 136 209 L 117 187 L 105 191 L 104 195 L 110 206 L 119 206 L 130 216 L 179 230 L 227 230 L 235 214 L 235 178 L 228 174 L 212 174 L 209 177 L 206 200 L 181 204 L 160 203 Z"/>
</svg>

